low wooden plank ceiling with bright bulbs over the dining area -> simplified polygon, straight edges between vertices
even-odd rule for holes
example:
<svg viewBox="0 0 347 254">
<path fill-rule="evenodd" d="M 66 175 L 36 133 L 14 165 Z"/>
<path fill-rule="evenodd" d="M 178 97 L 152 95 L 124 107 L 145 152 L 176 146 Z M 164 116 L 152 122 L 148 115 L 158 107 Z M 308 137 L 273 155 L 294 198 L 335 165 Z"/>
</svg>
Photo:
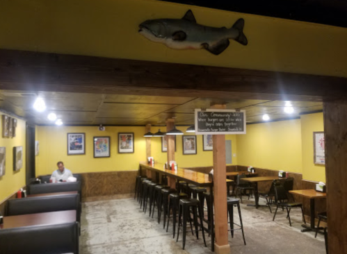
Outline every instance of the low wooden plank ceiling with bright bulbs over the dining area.
<svg viewBox="0 0 347 254">
<path fill-rule="evenodd" d="M 226 103 L 227 109 L 246 111 L 249 124 L 261 122 L 268 114 L 271 121 L 299 118 L 300 114 L 323 109 L 321 102 L 291 101 L 293 114 L 284 112 L 285 101 L 246 99 L 206 99 L 171 96 L 138 96 L 122 94 L 85 94 L 71 92 L 24 92 L 0 90 L 0 108 L 23 117 L 31 124 L 51 125 L 47 119 L 56 113 L 65 125 L 165 125 L 175 118 L 178 125 L 194 124 L 195 108 Z M 33 103 L 37 96 L 45 99 L 45 112 L 36 112 Z"/>
</svg>

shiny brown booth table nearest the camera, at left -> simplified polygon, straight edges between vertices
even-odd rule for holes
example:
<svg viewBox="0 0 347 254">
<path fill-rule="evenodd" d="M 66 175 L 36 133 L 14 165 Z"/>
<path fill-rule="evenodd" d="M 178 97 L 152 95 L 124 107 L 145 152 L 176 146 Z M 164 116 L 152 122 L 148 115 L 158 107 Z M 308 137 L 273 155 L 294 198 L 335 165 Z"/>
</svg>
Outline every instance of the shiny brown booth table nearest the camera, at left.
<svg viewBox="0 0 347 254">
<path fill-rule="evenodd" d="M 19 228 L 26 226 L 44 226 L 76 221 L 76 210 L 58 212 L 40 212 L 3 217 L 1 228 Z"/>
</svg>

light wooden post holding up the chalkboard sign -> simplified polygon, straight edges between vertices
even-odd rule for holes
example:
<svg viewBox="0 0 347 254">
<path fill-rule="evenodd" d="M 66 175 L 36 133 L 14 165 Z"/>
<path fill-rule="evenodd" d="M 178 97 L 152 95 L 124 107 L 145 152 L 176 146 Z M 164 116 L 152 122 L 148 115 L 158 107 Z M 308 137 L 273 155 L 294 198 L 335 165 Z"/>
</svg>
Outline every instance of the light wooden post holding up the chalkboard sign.
<svg viewBox="0 0 347 254">
<path fill-rule="evenodd" d="M 212 109 L 225 109 L 226 105 L 212 105 Z M 213 138 L 213 195 L 216 243 L 215 251 L 230 253 L 227 231 L 227 164 L 225 162 L 225 135 L 212 135 Z"/>
</svg>

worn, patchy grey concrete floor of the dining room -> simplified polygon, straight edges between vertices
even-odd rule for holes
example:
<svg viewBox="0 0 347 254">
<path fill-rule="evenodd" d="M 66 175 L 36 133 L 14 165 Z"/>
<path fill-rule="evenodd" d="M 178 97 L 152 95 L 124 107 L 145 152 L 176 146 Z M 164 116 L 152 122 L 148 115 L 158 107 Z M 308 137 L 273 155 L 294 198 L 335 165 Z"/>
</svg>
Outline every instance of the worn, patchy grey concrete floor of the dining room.
<svg viewBox="0 0 347 254">
<path fill-rule="evenodd" d="M 264 202 L 261 200 L 264 204 Z M 325 254 L 323 235 L 314 238 L 313 232 L 300 232 L 300 209 L 291 211 L 292 227 L 286 214 L 280 210 L 275 221 L 268 208 L 246 206 L 254 199 L 243 201 L 241 213 L 247 245 L 243 245 L 241 230 L 229 235 L 231 253 L 242 254 Z M 238 221 L 234 210 L 234 220 Z M 170 222 L 172 226 L 172 222 Z M 163 230 L 156 216 L 148 217 L 140 210 L 133 198 L 83 203 L 81 218 L 81 254 L 111 253 L 212 253 L 211 240 L 206 235 L 207 248 L 202 237 L 199 239 L 187 233 L 186 249 L 182 250 L 181 233 L 179 241 L 172 239 L 172 227 Z"/>
</svg>

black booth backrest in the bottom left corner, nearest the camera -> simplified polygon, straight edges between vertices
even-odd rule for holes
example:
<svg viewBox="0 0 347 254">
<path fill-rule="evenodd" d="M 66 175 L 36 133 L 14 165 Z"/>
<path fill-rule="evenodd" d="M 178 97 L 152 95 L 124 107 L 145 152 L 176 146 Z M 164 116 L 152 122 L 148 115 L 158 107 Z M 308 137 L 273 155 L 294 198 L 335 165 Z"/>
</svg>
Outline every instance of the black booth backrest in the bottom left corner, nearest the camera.
<svg viewBox="0 0 347 254">
<path fill-rule="evenodd" d="M 79 253 L 77 222 L 0 230 L 1 254 Z"/>
</svg>

